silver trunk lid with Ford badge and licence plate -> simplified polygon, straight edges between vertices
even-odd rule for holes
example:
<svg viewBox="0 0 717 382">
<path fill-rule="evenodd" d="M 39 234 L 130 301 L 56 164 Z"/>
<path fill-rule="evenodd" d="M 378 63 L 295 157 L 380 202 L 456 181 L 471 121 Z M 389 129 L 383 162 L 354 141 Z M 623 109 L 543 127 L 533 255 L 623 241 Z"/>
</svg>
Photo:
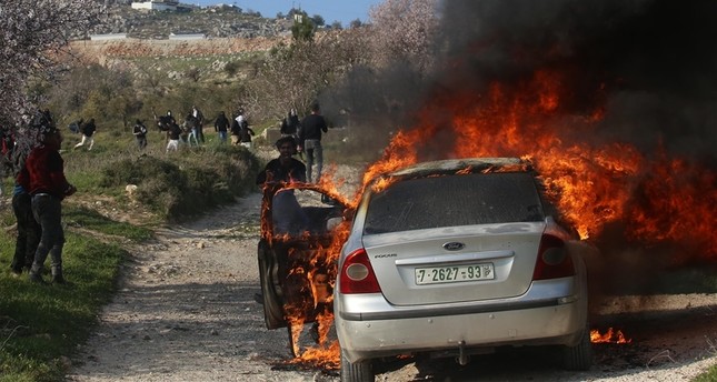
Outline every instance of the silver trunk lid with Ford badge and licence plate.
<svg viewBox="0 0 717 382">
<path fill-rule="evenodd" d="M 364 237 L 386 299 L 396 305 L 524 294 L 545 222 L 426 229 Z"/>
</svg>

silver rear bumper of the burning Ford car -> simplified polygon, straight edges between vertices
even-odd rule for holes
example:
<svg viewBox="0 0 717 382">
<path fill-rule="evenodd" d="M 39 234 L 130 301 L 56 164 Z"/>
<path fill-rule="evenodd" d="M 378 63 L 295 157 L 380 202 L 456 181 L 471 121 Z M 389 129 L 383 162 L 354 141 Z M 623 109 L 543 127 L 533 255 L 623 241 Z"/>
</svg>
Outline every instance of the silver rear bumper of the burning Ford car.
<svg viewBox="0 0 717 382">
<path fill-rule="evenodd" d="M 585 330 L 587 299 L 578 299 L 577 294 L 546 298 L 548 292 L 559 291 L 575 292 L 572 281 L 534 283 L 524 296 L 500 303 L 420 309 L 392 306 L 380 294 L 341 295 L 335 301 L 336 329 L 341 349 L 351 362 L 459 348 L 574 345 Z M 346 306 L 356 305 L 364 306 L 361 314 L 346 311 Z"/>
</svg>

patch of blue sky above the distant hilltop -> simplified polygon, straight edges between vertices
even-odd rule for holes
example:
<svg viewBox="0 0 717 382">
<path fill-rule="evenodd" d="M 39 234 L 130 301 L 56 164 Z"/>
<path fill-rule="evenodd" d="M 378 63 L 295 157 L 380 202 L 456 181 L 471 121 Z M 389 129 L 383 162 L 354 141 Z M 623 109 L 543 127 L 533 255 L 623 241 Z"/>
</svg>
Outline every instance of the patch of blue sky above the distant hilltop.
<svg viewBox="0 0 717 382">
<path fill-rule="evenodd" d="M 301 9 L 309 16 L 320 14 L 327 24 L 340 21 L 343 27 L 359 19 L 368 21 L 368 11 L 371 6 L 384 2 L 382 0 L 190 0 L 186 1 L 197 6 L 230 4 L 243 11 L 258 11 L 261 16 L 273 18 L 277 13 L 288 13 L 291 8 Z"/>
</svg>

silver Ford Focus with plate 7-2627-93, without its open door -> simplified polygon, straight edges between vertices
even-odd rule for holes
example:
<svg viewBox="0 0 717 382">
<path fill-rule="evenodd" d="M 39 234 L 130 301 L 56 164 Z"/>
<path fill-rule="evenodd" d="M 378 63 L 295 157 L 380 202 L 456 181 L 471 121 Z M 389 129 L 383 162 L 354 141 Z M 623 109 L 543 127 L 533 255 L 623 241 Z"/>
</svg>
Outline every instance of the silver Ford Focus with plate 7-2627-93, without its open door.
<svg viewBox="0 0 717 382">
<path fill-rule="evenodd" d="M 557 345 L 591 365 L 585 251 L 529 162 L 425 162 L 364 191 L 338 259 L 333 314 L 342 381 L 381 358 Z"/>
</svg>

